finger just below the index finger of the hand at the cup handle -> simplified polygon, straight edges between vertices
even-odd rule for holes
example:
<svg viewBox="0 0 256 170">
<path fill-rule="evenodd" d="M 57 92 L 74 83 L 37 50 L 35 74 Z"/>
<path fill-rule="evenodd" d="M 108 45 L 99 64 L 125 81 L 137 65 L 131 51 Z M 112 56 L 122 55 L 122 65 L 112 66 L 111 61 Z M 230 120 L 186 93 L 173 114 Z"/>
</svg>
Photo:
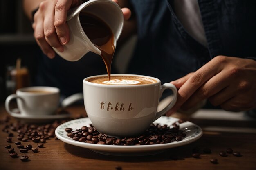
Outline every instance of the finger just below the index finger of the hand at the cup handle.
<svg viewBox="0 0 256 170">
<path fill-rule="evenodd" d="M 217 94 L 222 89 L 225 89 L 229 84 L 230 80 L 228 74 L 224 71 L 213 76 L 209 81 L 204 83 L 194 94 L 181 106 L 182 109 L 187 110 L 195 106 L 200 101 Z"/>
</svg>

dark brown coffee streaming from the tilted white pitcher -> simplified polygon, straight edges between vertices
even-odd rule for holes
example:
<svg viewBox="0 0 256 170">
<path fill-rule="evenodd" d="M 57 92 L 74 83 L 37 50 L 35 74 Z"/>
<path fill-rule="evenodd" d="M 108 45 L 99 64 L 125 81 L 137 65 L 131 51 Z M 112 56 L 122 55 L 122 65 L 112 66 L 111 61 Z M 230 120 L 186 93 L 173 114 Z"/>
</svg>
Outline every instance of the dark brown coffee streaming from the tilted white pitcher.
<svg viewBox="0 0 256 170">
<path fill-rule="evenodd" d="M 110 80 L 111 63 L 115 52 L 113 32 L 103 20 L 90 13 L 81 12 L 79 19 L 87 37 L 101 50 L 101 57 L 106 65 Z"/>
</svg>

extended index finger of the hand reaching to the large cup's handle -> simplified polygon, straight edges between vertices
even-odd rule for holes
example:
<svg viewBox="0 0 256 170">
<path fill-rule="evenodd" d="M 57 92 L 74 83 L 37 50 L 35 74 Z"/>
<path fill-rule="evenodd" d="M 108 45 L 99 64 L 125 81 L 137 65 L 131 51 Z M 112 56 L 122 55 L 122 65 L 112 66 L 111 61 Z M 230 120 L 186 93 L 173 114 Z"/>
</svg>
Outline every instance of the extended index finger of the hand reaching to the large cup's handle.
<svg viewBox="0 0 256 170">
<path fill-rule="evenodd" d="M 216 67 L 216 65 L 218 65 L 218 67 Z M 169 113 L 177 111 L 197 89 L 211 77 L 218 74 L 221 69 L 221 65 L 218 64 L 218 60 L 216 59 L 212 59 L 209 63 L 198 69 L 178 90 L 177 102 Z"/>
</svg>

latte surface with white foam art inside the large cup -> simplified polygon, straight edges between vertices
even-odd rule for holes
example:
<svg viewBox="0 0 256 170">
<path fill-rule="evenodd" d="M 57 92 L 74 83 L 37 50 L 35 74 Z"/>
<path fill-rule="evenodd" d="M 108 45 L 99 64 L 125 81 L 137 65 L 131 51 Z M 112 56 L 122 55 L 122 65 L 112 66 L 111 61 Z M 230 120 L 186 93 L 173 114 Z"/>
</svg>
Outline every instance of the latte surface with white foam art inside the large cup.
<svg viewBox="0 0 256 170">
<path fill-rule="evenodd" d="M 157 82 L 151 78 L 136 76 L 111 76 L 111 80 L 109 80 L 108 77 L 97 77 L 91 78 L 88 81 L 105 85 L 145 85 Z"/>
</svg>

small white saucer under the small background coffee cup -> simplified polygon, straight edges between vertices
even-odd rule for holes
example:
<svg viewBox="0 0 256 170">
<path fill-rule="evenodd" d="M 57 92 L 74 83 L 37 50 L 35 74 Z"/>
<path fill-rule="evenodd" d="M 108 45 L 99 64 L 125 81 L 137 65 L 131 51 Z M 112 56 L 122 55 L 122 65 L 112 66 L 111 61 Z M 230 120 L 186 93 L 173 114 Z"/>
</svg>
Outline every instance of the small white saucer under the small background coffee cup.
<svg viewBox="0 0 256 170">
<path fill-rule="evenodd" d="M 70 113 L 52 115 L 24 115 L 20 114 L 18 109 L 13 109 L 12 111 L 15 113 L 11 113 L 11 116 L 13 116 L 14 118 L 18 118 L 20 121 L 25 123 L 45 123 L 55 119 L 63 119 L 70 117 Z"/>
</svg>

